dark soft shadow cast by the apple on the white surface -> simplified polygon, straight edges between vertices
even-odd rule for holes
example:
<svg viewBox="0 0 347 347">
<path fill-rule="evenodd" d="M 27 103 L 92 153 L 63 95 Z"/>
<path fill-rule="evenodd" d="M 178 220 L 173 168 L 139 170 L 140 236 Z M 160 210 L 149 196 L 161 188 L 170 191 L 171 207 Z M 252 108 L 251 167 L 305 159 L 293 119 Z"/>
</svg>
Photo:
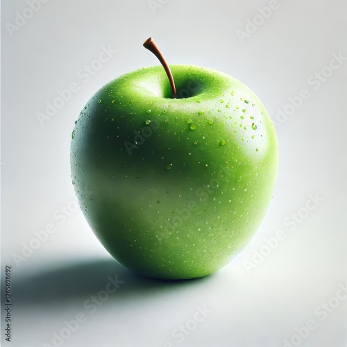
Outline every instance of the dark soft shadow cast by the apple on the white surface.
<svg viewBox="0 0 347 347">
<path fill-rule="evenodd" d="M 127 300 L 135 296 L 155 296 L 160 292 L 174 291 L 178 287 L 181 289 L 201 285 L 212 277 L 213 274 L 192 280 L 158 280 L 139 276 L 116 260 L 94 260 L 35 274 L 28 273 L 20 278 L 12 276 L 12 301 L 16 305 L 45 305 L 87 299 L 105 291 L 106 285 L 108 282 L 112 283 L 112 280 L 119 280 L 120 283 L 117 298 Z M 1 282 L 3 284 L 5 281 Z M 1 287 L 3 291 L 3 285 Z M 111 288 L 114 289 L 115 286 L 112 285 Z"/>
</svg>

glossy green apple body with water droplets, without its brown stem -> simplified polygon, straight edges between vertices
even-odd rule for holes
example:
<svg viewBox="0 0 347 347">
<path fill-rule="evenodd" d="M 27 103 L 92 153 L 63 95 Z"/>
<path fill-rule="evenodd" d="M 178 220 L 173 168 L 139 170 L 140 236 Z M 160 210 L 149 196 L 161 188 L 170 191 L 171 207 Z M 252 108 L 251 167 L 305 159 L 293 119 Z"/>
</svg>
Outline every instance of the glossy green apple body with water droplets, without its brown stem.
<svg viewBox="0 0 347 347">
<path fill-rule="evenodd" d="M 161 66 L 94 94 L 72 134 L 71 177 L 87 222 L 121 264 L 198 278 L 230 262 L 260 225 L 278 144 L 246 85 L 214 69 L 170 68 L 178 99 Z"/>
</svg>

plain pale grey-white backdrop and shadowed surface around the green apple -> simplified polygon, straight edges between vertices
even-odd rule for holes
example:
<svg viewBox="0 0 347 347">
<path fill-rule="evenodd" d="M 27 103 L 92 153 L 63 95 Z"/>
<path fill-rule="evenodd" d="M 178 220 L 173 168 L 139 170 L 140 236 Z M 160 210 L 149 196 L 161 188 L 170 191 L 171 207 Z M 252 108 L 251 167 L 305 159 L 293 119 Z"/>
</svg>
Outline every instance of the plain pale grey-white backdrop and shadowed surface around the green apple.
<svg viewBox="0 0 347 347">
<path fill-rule="evenodd" d="M 50 0 L 13 29 L 16 12 L 28 11 L 28 3 L 1 1 L 1 271 L 12 266 L 14 302 L 8 346 L 54 346 L 53 332 L 81 312 L 86 321 L 62 346 L 155 347 L 170 341 L 282 347 L 292 339 L 293 346 L 346 347 L 347 300 L 335 298 L 347 282 L 347 60 L 328 67 L 334 53 L 347 57 L 347 2 L 279 0 L 267 19 L 257 8 L 269 1 L 152 2 L 159 6 L 151 9 L 147 0 Z M 257 27 L 240 40 L 237 30 L 246 31 L 247 19 Z M 149 36 L 171 63 L 214 67 L 244 82 L 277 123 L 278 183 L 262 226 L 228 266 L 200 280 L 134 276 L 99 244 L 81 210 L 74 210 L 74 121 L 102 85 L 158 64 L 142 47 Z M 89 81 L 79 78 L 78 70 L 102 46 L 117 53 Z M 319 81 L 315 74 L 321 72 Z M 37 112 L 44 113 L 46 102 L 72 82 L 79 91 L 41 125 Z M 278 110 L 303 89 L 310 97 L 279 123 Z M 323 201 L 307 212 L 310 194 Z M 74 212 L 58 217 L 67 206 Z M 285 220 L 297 212 L 305 218 L 289 228 Z M 22 255 L 23 243 L 47 223 L 56 232 L 15 262 L 13 254 Z M 250 268 L 255 251 L 264 250 L 265 239 L 278 230 L 285 240 Z M 95 312 L 85 308 L 116 275 L 124 284 Z M 334 307 L 317 308 L 324 302 Z M 204 305 L 210 313 L 195 327 L 196 306 Z M 315 328 L 305 339 L 294 337 L 308 320 Z M 172 334 L 186 323 L 192 330 L 180 343 Z"/>
</svg>

